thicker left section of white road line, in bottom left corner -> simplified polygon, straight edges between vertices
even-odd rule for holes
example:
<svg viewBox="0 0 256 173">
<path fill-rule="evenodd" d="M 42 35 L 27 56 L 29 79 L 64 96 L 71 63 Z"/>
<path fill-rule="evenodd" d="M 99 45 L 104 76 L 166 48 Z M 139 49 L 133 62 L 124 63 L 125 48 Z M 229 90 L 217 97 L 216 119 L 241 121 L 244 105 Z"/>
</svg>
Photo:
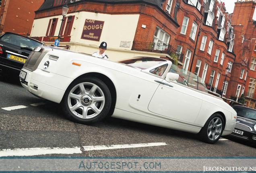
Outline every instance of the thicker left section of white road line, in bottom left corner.
<svg viewBox="0 0 256 173">
<path fill-rule="evenodd" d="M 33 156 L 46 154 L 74 154 L 82 153 L 80 147 L 74 148 L 23 148 L 23 149 L 3 149 L 0 150 L 0 157 L 7 156 Z"/>
</svg>

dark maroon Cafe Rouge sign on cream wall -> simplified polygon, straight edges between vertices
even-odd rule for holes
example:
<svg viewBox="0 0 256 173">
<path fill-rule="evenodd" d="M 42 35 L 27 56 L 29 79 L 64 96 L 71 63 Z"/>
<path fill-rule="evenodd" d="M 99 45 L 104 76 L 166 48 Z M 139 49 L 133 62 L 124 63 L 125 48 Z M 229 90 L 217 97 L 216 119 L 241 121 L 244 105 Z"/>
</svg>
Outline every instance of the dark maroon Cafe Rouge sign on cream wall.
<svg viewBox="0 0 256 173">
<path fill-rule="evenodd" d="M 85 19 L 85 26 L 81 38 L 86 40 L 99 41 L 104 21 Z"/>
</svg>

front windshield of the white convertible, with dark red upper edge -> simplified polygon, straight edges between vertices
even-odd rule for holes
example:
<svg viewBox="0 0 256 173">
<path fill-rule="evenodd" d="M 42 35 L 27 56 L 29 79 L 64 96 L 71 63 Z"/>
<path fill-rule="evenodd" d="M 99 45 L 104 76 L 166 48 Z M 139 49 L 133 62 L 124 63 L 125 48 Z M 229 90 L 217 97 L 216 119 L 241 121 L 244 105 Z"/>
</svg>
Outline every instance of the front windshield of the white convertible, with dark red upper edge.
<svg viewBox="0 0 256 173">
<path fill-rule="evenodd" d="M 160 58 L 153 58 L 153 57 L 137 57 L 128 60 L 119 61 L 120 63 L 124 63 L 126 65 L 140 68 L 140 69 L 147 69 L 155 66 L 157 64 L 161 64 L 166 60 Z"/>
</svg>

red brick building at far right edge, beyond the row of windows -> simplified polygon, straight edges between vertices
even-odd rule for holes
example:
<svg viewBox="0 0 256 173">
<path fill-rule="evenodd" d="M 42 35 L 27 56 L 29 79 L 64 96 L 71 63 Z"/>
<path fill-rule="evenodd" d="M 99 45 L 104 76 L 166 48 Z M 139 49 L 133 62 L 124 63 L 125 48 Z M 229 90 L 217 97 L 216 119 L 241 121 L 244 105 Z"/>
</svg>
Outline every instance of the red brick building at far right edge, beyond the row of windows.
<svg viewBox="0 0 256 173">
<path fill-rule="evenodd" d="M 232 25 L 235 33 L 235 62 L 232 68 L 230 95 L 234 100 L 243 93 L 245 105 L 256 107 L 256 21 L 252 19 L 256 2 L 235 2 Z"/>
</svg>

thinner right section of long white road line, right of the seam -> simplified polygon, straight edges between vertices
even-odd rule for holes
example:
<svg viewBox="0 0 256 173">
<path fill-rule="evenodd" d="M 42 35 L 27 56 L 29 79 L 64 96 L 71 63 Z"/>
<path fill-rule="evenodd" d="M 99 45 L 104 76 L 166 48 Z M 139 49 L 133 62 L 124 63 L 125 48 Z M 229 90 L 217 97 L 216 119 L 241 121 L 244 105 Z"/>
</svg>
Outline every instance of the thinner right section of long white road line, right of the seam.
<svg viewBox="0 0 256 173">
<path fill-rule="evenodd" d="M 140 143 L 140 144 L 123 144 L 123 145 L 96 145 L 96 146 L 83 146 L 85 151 L 92 150 L 106 150 L 106 149 L 124 149 L 124 148 L 138 148 L 138 147 L 154 147 L 167 145 L 167 143 Z"/>
</svg>

